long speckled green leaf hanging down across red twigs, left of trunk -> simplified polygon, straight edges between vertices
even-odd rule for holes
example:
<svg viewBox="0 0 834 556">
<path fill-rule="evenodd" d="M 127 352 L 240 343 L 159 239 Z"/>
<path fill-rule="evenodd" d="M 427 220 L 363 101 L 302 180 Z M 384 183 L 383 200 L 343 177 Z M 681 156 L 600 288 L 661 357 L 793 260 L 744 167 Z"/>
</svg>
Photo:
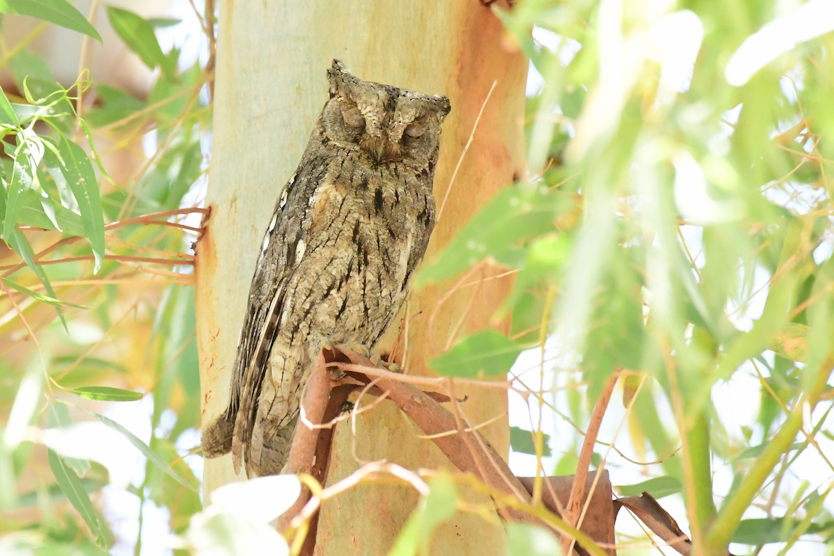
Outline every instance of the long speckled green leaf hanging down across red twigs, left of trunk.
<svg viewBox="0 0 834 556">
<path fill-rule="evenodd" d="M 90 248 L 93 249 L 96 261 L 93 273 L 98 273 L 104 260 L 104 213 L 98 196 L 98 179 L 87 153 L 78 144 L 62 137 L 58 152 L 63 158 L 60 161 L 61 173 L 73 191 Z"/>
</svg>

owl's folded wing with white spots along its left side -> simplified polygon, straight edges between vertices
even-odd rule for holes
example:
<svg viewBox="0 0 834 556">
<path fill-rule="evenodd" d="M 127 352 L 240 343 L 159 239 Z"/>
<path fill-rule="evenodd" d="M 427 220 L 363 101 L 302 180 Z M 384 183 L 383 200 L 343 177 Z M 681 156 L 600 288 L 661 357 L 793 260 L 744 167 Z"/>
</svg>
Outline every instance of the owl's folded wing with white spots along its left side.
<svg viewBox="0 0 834 556">
<path fill-rule="evenodd" d="M 264 234 L 252 285 L 238 353 L 234 362 L 231 399 L 224 416 L 229 433 L 235 472 L 241 455 L 248 452 L 252 438 L 258 398 L 269 373 L 269 352 L 279 331 L 286 287 L 296 272 L 295 252 L 299 241 L 306 241 L 310 228 L 309 198 L 321 178 L 309 164 L 301 163 L 275 205 L 275 212 Z"/>
</svg>

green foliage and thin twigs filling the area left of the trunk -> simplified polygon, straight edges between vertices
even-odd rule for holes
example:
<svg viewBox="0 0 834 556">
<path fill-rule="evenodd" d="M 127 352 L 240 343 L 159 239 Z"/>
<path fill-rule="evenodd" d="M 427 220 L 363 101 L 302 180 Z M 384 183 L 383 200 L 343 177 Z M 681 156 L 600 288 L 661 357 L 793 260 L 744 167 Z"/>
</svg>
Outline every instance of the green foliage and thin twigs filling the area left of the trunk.
<svg viewBox="0 0 834 556">
<path fill-rule="evenodd" d="M 3 553 L 138 553 L 137 529 L 114 523 L 141 531 L 145 508 L 166 508 L 182 533 L 202 508 L 191 243 L 210 75 L 160 47 L 155 27 L 178 21 L 98 9 L 115 35 L 63 0 L 0 2 L 4 29 L 26 22 L 5 14 L 41 18 L 127 46 L 153 76 L 143 96 L 87 70 L 58 83 L 29 48 L 43 25 L 2 45 Z M 113 475 L 143 459 L 138 477 Z"/>
</svg>

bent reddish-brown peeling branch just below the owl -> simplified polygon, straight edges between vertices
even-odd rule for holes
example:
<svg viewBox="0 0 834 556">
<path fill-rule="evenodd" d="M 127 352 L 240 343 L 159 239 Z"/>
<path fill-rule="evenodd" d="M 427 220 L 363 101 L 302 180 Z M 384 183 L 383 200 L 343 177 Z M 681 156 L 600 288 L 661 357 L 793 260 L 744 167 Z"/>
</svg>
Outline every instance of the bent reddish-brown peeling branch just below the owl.
<svg viewBox="0 0 834 556">
<path fill-rule="evenodd" d="M 330 380 L 330 378 L 336 378 L 333 373 L 334 368 L 343 372 L 335 381 Z M 584 479 L 585 484 L 584 488 L 579 489 L 582 493 L 580 499 L 584 508 L 578 526 L 579 531 L 572 526 L 572 523 L 561 518 L 550 518 L 546 523 L 543 522 L 540 514 L 537 516 L 530 511 L 530 508 L 536 505 L 534 500 L 540 499 L 545 508 L 553 512 L 555 516 L 565 515 L 565 507 L 568 506 L 572 493 L 574 498 L 576 496 L 574 491 L 577 491 L 575 485 L 577 477 L 573 475 L 542 478 L 516 477 L 500 454 L 476 428 L 470 427 L 465 422 L 462 423 L 463 427 L 460 427 L 455 415 L 440 406 L 440 403 L 451 401 L 448 396 L 423 392 L 409 384 L 413 379 L 420 379 L 419 382 L 423 382 L 421 378 L 391 373 L 384 366 L 374 364 L 361 353 L 343 351 L 339 348 L 334 348 L 332 351 L 324 350 L 312 374 L 319 375 L 324 380 L 314 380 L 311 377 L 307 385 L 303 407 L 307 421 L 305 424 L 308 426 L 299 427 L 296 431 L 295 437 L 297 438 L 293 439 L 294 447 L 291 448 L 289 461 L 294 461 L 294 453 L 309 453 L 309 447 L 314 445 L 314 459 L 306 461 L 311 463 L 310 474 L 321 485 L 326 484 L 327 481 L 326 473 L 333 426 L 339 420 L 344 419 L 344 416 L 339 416 L 344 413 L 343 406 L 349 394 L 362 388 L 363 393 L 387 398 L 396 403 L 423 430 L 426 438 L 435 442 L 449 458 L 450 463 L 485 485 L 504 518 L 546 524 L 564 534 L 566 538 L 577 538 L 580 542 L 584 540 L 585 544 L 593 539 L 595 543 L 605 546 L 613 543 L 615 517 L 618 510 L 625 506 L 636 513 L 652 531 L 666 539 L 672 548 L 680 553 L 688 553 L 687 549 L 691 546 L 689 539 L 683 535 L 669 513 L 666 513 L 666 510 L 648 494 L 612 501 L 610 497 L 612 488 L 607 472 L 590 472 L 580 478 L 580 480 Z M 314 401 L 314 398 L 318 401 Z M 326 400 L 326 403 L 322 400 Z M 354 408 L 353 411 L 356 409 Z M 297 442 L 304 448 L 296 448 Z M 538 488 L 536 487 L 537 481 L 539 482 Z M 534 496 L 534 492 L 539 494 Z M 301 514 L 299 512 L 303 508 L 306 509 L 308 504 L 320 503 L 320 501 L 311 501 L 309 498 L 309 492 L 307 492 L 299 498 L 294 508 L 282 516 L 279 530 L 290 526 L 293 519 L 299 516 Z M 311 543 L 314 543 L 318 523 L 318 513 L 314 512 L 311 515 L 305 548 L 311 547 Z M 292 524 L 294 528 L 297 526 L 298 523 Z M 589 553 L 581 546 L 575 548 L 578 553 Z"/>
</svg>

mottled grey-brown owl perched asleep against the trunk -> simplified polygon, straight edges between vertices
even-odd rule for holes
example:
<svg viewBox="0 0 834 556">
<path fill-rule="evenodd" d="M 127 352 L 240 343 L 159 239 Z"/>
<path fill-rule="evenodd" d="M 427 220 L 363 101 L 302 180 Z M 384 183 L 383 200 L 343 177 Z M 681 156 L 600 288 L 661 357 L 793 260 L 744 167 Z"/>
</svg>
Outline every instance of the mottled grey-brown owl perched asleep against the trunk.
<svg viewBox="0 0 834 556">
<path fill-rule="evenodd" d="M 399 311 L 435 226 L 432 185 L 449 99 L 356 78 L 338 60 L 329 100 L 266 227 L 229 407 L 203 432 L 249 476 L 280 473 L 323 343 L 373 348 Z"/>
</svg>

